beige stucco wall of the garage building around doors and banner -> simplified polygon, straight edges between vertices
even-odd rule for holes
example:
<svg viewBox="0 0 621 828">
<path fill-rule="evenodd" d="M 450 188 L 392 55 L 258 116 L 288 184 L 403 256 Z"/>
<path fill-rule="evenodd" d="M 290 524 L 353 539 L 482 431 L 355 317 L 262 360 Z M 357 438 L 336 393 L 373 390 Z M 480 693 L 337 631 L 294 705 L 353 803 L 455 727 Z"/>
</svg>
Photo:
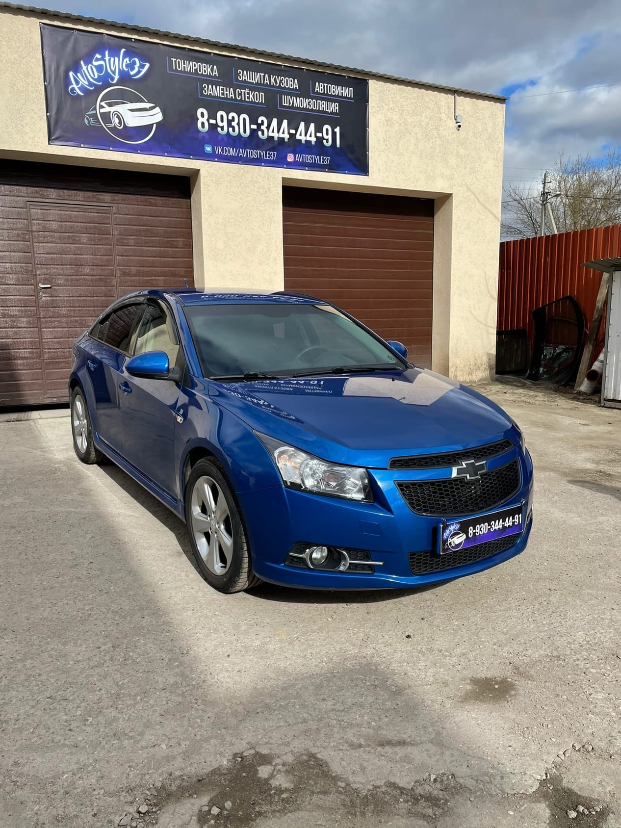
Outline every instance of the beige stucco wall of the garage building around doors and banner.
<svg viewBox="0 0 621 828">
<path fill-rule="evenodd" d="M 435 198 L 433 368 L 465 382 L 489 375 L 496 340 L 503 103 L 460 94 L 458 132 L 452 93 L 369 79 L 368 177 L 51 147 L 39 22 L 69 24 L 61 17 L 0 10 L 0 54 L 11 56 L 0 61 L 0 156 L 192 176 L 199 286 L 282 290 L 283 184 Z M 123 34 L 118 27 L 70 25 Z"/>
</svg>

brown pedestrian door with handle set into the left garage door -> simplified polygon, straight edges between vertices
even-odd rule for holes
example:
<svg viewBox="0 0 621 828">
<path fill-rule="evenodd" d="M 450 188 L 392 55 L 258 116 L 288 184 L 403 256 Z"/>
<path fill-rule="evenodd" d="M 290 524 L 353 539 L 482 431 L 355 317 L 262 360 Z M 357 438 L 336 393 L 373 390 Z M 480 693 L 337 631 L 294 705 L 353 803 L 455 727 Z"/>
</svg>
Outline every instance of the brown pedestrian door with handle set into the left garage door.
<svg viewBox="0 0 621 828">
<path fill-rule="evenodd" d="M 112 208 L 28 202 L 44 395 L 65 399 L 71 346 L 117 297 Z"/>
</svg>

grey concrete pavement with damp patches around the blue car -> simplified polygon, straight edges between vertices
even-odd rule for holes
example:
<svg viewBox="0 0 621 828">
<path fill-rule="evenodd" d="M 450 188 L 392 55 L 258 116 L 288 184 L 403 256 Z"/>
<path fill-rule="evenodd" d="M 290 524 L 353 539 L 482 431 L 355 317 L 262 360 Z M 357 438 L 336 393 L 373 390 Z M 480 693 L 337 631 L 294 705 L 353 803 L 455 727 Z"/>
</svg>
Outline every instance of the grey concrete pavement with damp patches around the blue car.
<svg viewBox="0 0 621 828">
<path fill-rule="evenodd" d="M 0 423 L 0 826 L 621 826 L 621 412 L 483 390 L 532 540 L 416 592 L 219 595 L 66 416 Z"/>
</svg>

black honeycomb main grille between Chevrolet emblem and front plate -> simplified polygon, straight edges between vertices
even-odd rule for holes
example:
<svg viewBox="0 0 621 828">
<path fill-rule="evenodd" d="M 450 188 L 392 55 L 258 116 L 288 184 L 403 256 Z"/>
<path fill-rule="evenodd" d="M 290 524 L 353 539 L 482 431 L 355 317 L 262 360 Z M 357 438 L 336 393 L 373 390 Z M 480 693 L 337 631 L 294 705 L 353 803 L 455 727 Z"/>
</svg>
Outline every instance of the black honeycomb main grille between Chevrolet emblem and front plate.
<svg viewBox="0 0 621 828">
<path fill-rule="evenodd" d="M 442 480 L 397 482 L 407 505 L 419 515 L 462 517 L 484 512 L 513 497 L 520 489 L 518 460 L 485 471 L 478 480 L 455 477 Z"/>
</svg>

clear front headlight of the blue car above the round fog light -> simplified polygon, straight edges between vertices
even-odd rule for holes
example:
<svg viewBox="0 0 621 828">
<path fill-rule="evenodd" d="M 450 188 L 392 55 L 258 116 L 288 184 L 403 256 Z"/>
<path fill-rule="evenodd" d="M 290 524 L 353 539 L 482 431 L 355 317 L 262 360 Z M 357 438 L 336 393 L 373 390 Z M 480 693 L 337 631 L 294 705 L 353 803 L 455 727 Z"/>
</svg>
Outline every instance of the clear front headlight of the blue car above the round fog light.
<svg viewBox="0 0 621 828">
<path fill-rule="evenodd" d="M 373 500 L 365 469 L 327 463 L 281 440 L 255 434 L 272 455 L 282 482 L 291 489 L 366 503 Z"/>
</svg>

